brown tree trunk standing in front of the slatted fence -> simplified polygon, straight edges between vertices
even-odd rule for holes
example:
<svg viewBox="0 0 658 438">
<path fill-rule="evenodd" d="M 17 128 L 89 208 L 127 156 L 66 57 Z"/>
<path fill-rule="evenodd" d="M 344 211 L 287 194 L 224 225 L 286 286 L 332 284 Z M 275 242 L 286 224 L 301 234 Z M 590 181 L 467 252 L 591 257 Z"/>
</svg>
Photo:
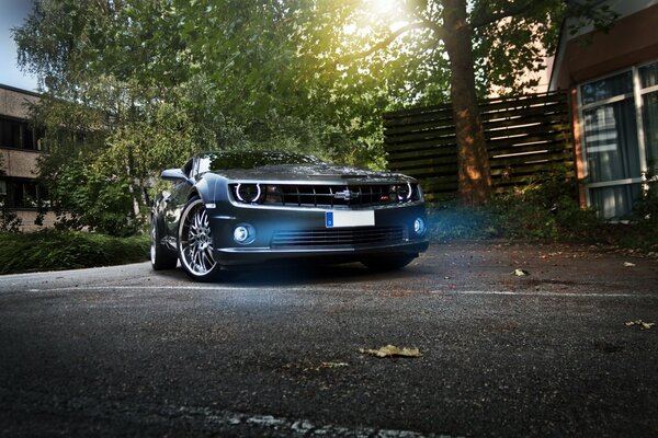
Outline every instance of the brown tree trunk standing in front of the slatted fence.
<svg viewBox="0 0 658 438">
<path fill-rule="evenodd" d="M 443 1 L 443 42 L 452 73 L 451 97 L 457 137 L 460 196 L 466 204 L 478 205 L 491 195 L 491 174 L 475 93 L 473 31 L 467 22 L 466 0 Z"/>
</svg>

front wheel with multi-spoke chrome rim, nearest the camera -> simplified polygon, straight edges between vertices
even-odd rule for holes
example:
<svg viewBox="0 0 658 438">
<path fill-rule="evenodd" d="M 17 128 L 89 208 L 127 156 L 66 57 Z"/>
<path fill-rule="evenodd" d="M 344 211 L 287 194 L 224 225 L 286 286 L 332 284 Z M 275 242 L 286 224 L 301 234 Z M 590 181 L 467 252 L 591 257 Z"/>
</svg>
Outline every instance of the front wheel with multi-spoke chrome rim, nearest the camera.
<svg viewBox="0 0 658 438">
<path fill-rule="evenodd" d="M 209 218 L 205 204 L 191 198 L 179 223 L 178 255 L 183 269 L 197 281 L 219 278 L 222 266 L 215 260 Z"/>
</svg>

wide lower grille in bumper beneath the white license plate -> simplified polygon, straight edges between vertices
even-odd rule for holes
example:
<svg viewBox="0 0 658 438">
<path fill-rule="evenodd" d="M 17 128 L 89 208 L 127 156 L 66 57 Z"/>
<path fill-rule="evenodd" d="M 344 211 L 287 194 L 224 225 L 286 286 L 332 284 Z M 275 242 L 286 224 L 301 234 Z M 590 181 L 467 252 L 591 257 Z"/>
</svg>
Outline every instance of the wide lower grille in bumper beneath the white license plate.
<svg viewBox="0 0 658 438">
<path fill-rule="evenodd" d="M 364 245 L 370 243 L 401 242 L 405 239 L 402 227 L 373 227 L 344 229 L 306 229 L 277 231 L 272 238 L 272 246 L 326 246 Z"/>
</svg>

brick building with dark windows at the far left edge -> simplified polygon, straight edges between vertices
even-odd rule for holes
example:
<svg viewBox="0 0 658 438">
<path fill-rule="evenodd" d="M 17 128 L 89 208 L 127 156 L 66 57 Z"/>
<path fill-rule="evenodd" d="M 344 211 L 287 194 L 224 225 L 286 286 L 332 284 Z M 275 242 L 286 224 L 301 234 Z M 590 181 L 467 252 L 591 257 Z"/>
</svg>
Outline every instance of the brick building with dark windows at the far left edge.
<svg viewBox="0 0 658 438">
<path fill-rule="evenodd" d="M 35 174 L 43 143 L 29 122 L 29 106 L 36 102 L 36 93 L 0 84 L 0 205 L 21 218 L 24 231 L 39 228 L 34 223 L 37 206 L 47 205 Z M 54 220 L 47 214 L 44 226 Z"/>
</svg>

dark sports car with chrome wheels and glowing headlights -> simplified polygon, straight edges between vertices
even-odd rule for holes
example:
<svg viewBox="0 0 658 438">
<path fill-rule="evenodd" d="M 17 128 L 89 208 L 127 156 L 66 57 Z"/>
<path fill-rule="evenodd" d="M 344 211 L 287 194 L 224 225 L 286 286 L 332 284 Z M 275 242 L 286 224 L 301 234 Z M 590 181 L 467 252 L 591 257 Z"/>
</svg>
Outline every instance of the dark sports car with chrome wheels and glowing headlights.
<svg viewBox="0 0 658 438">
<path fill-rule="evenodd" d="M 197 280 L 280 260 L 396 269 L 428 249 L 412 177 L 288 152 L 205 152 L 162 172 L 151 211 L 154 269 Z"/>
</svg>

